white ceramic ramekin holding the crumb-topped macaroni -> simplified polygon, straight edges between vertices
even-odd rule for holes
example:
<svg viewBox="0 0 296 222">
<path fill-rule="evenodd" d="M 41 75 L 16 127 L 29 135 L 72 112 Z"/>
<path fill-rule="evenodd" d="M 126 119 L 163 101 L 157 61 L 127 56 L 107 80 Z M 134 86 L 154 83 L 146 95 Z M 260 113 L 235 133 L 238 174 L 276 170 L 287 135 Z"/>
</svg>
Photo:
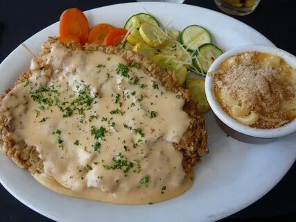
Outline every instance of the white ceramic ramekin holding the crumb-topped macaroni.
<svg viewBox="0 0 296 222">
<path fill-rule="evenodd" d="M 213 62 L 208 72 L 216 71 L 220 64 L 227 58 L 247 51 L 259 51 L 280 56 L 281 58 L 284 58 L 284 60 L 286 60 L 288 65 L 296 69 L 296 57 L 282 49 L 278 49 L 272 46 L 247 45 L 223 53 L 222 56 L 219 56 Z M 239 123 L 238 121 L 232 119 L 232 117 L 229 117 L 229 115 L 221 108 L 215 98 L 213 80 L 214 78 L 211 75 L 207 75 L 205 79 L 205 92 L 207 96 L 207 101 L 211 106 L 211 110 L 213 110 L 214 114 L 216 115 L 219 126 L 231 137 L 234 137 L 235 139 L 238 139 L 242 142 L 260 144 L 270 142 L 272 139 L 275 139 L 277 137 L 283 137 L 285 135 L 289 135 L 290 133 L 296 132 L 296 119 L 284 126 L 274 129 L 251 128 L 250 126 L 245 126 L 242 123 Z"/>
</svg>

